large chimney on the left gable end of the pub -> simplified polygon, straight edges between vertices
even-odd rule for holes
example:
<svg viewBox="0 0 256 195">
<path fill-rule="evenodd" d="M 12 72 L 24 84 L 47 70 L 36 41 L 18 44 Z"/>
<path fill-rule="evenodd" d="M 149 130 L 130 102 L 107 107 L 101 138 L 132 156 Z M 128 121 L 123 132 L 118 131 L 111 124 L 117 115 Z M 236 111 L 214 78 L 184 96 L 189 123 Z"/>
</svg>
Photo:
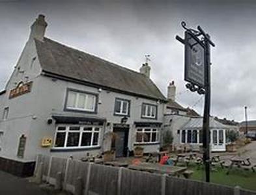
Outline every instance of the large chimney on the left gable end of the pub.
<svg viewBox="0 0 256 195">
<path fill-rule="evenodd" d="M 29 39 L 36 38 L 38 40 L 44 39 L 44 33 L 46 32 L 47 23 L 44 20 L 44 15 L 40 14 L 38 18 L 34 21 L 33 25 L 31 25 L 31 32 Z"/>
</svg>

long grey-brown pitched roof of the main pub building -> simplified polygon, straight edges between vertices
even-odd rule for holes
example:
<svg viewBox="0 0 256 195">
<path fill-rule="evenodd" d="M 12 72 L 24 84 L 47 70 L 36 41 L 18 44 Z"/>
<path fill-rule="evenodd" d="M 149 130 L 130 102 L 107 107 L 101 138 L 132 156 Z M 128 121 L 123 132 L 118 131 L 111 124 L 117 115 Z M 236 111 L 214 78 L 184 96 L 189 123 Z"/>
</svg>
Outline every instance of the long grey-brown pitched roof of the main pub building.
<svg viewBox="0 0 256 195">
<path fill-rule="evenodd" d="M 151 79 L 139 72 L 59 44 L 49 38 L 44 38 L 44 42 L 35 39 L 35 44 L 42 71 L 45 73 L 145 98 L 166 100 Z"/>
</svg>

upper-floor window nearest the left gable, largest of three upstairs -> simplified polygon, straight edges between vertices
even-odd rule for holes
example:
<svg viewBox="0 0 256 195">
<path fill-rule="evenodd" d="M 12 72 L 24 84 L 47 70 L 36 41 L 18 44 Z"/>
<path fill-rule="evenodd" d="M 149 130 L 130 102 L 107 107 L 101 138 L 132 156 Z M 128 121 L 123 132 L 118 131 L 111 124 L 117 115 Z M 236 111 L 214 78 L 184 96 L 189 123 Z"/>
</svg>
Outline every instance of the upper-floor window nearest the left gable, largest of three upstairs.
<svg viewBox="0 0 256 195">
<path fill-rule="evenodd" d="M 66 109 L 96 112 L 96 94 L 68 90 Z"/>
</svg>

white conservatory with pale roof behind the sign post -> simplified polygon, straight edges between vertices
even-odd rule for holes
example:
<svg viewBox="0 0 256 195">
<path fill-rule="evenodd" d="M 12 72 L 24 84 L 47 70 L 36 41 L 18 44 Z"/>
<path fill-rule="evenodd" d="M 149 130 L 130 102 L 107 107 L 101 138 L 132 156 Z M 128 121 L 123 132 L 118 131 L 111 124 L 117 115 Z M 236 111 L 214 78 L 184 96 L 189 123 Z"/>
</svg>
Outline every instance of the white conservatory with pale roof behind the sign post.
<svg viewBox="0 0 256 195">
<path fill-rule="evenodd" d="M 210 148 L 211 151 L 225 151 L 227 126 L 210 118 Z M 178 131 L 180 144 L 189 144 L 193 150 L 199 150 L 203 145 L 203 118 L 190 118 Z"/>
</svg>

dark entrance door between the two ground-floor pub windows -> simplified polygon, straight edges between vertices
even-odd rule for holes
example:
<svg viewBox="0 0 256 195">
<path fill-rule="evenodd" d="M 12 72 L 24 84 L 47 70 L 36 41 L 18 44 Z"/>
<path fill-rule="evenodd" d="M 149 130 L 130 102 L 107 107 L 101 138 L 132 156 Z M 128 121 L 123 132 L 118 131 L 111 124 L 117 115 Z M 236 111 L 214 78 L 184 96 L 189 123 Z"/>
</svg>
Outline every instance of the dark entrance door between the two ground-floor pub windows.
<svg viewBox="0 0 256 195">
<path fill-rule="evenodd" d="M 114 127 L 114 133 L 117 135 L 113 143 L 116 157 L 126 157 L 128 151 L 128 133 L 129 129 L 125 127 Z"/>
</svg>

